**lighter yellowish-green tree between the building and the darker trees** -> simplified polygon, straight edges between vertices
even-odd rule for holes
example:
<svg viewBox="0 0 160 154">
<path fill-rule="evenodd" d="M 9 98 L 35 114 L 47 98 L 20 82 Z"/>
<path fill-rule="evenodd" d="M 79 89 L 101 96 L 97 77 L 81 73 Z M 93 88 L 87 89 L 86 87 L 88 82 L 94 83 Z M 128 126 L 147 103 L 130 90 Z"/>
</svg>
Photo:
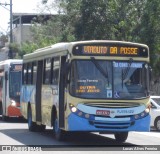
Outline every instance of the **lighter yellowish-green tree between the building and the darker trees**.
<svg viewBox="0 0 160 154">
<path fill-rule="evenodd" d="M 33 34 L 33 42 L 27 41 L 22 44 L 21 47 L 17 47 L 19 56 L 31 53 L 38 48 L 43 48 L 57 42 L 74 41 L 74 35 L 70 21 L 66 14 L 64 14 L 65 7 L 62 1 L 55 0 L 52 4 L 46 5 L 43 9 L 47 9 L 48 12 L 52 12 L 50 9 L 57 11 L 54 15 L 51 14 L 51 18 L 47 21 L 38 17 L 32 21 L 31 31 Z"/>
</svg>

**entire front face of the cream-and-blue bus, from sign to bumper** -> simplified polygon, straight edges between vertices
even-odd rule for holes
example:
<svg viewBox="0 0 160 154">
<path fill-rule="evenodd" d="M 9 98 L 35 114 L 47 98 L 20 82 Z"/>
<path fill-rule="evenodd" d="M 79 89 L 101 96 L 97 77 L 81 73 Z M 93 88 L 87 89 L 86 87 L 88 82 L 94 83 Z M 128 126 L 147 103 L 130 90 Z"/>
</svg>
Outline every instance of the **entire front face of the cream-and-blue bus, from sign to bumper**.
<svg viewBox="0 0 160 154">
<path fill-rule="evenodd" d="M 149 51 L 124 42 L 77 44 L 69 75 L 68 130 L 149 131 Z"/>
</svg>

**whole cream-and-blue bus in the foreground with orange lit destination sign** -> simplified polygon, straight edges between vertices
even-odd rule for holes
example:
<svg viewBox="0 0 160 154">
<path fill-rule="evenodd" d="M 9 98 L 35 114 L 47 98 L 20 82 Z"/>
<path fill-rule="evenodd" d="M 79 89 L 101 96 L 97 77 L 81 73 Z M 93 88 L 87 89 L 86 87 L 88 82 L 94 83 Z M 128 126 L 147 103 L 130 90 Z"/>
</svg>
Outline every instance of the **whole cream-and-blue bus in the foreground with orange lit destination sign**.
<svg viewBox="0 0 160 154">
<path fill-rule="evenodd" d="M 58 43 L 23 57 L 21 112 L 30 131 L 150 130 L 149 49 L 123 41 Z"/>
</svg>

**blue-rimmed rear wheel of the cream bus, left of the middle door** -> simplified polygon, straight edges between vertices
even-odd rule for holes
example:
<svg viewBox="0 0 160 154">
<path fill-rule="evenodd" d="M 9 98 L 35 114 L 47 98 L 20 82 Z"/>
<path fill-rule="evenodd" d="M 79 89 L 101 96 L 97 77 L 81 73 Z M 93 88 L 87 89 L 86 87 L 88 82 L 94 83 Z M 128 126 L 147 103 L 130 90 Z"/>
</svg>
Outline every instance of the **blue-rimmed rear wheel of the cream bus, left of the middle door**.
<svg viewBox="0 0 160 154">
<path fill-rule="evenodd" d="M 27 114 L 27 119 L 28 119 L 28 129 L 29 129 L 29 131 L 36 131 L 36 123 L 34 123 L 33 121 L 32 121 L 32 110 L 31 110 L 31 107 L 29 106 L 28 107 L 28 114 Z"/>
</svg>

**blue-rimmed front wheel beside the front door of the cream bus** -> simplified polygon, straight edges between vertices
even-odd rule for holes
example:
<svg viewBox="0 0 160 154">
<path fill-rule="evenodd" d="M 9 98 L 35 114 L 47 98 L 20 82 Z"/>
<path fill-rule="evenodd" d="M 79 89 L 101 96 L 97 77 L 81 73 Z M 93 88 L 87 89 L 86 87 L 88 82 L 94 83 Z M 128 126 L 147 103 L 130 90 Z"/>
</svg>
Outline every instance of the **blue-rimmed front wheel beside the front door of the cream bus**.
<svg viewBox="0 0 160 154">
<path fill-rule="evenodd" d="M 57 118 L 55 118 L 53 123 L 53 132 L 57 140 L 59 141 L 64 140 L 64 131 L 59 128 L 59 122 Z"/>
</svg>

